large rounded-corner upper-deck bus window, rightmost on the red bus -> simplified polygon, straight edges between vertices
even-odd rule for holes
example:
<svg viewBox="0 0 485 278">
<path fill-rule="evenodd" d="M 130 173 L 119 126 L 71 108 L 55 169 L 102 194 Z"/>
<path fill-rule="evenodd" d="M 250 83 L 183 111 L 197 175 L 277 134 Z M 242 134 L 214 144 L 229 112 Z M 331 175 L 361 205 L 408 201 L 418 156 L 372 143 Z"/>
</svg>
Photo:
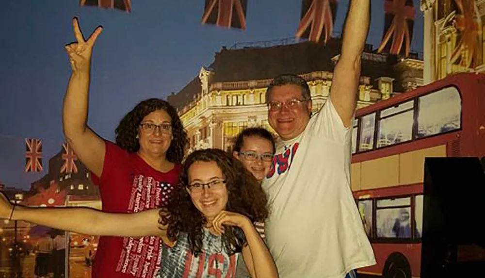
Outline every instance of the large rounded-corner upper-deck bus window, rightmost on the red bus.
<svg viewBox="0 0 485 278">
<path fill-rule="evenodd" d="M 418 99 L 418 138 L 460 129 L 461 98 L 447 87 Z"/>
</svg>

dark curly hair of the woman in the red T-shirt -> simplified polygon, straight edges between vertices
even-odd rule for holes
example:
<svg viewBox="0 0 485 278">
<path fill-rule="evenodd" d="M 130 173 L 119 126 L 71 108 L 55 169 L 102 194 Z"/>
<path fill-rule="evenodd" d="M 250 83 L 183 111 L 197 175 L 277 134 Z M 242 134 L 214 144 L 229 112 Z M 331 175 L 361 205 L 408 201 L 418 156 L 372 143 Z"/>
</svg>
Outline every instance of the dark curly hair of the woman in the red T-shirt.
<svg viewBox="0 0 485 278">
<path fill-rule="evenodd" d="M 136 152 L 140 149 L 140 143 L 136 136 L 143 118 L 156 110 L 164 110 L 172 119 L 172 134 L 174 138 L 168 147 L 166 158 L 172 163 L 180 164 L 185 154 L 185 147 L 188 143 L 187 132 L 182 126 L 177 110 L 170 103 L 160 98 L 149 98 L 138 103 L 123 119 L 114 130 L 116 145 L 129 152 Z"/>
</svg>

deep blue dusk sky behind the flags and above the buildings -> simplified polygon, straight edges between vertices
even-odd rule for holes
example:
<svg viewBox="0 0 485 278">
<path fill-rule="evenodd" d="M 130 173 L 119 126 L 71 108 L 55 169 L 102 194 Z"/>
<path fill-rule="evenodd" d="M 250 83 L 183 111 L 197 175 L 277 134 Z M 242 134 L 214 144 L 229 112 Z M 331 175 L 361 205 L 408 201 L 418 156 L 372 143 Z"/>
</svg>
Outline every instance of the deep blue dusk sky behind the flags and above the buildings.
<svg viewBox="0 0 485 278">
<path fill-rule="evenodd" d="M 65 44 L 78 16 L 87 38 L 104 27 L 93 54 L 88 123 L 113 139 L 121 117 L 146 98 L 178 92 L 222 46 L 293 37 L 301 0 L 248 0 L 247 30 L 202 26 L 204 0 L 132 0 L 132 13 L 79 7 L 79 0 L 2 1 L 0 9 L 0 183 L 28 189 L 63 142 L 61 109 L 70 76 Z M 411 49 L 422 51 L 422 13 Z M 46 4 L 49 3 L 49 4 Z M 339 0 L 340 32 L 348 0 Z M 368 43 L 378 46 L 384 0 L 372 0 Z M 44 172 L 24 173 L 24 138 L 41 138 Z"/>
</svg>

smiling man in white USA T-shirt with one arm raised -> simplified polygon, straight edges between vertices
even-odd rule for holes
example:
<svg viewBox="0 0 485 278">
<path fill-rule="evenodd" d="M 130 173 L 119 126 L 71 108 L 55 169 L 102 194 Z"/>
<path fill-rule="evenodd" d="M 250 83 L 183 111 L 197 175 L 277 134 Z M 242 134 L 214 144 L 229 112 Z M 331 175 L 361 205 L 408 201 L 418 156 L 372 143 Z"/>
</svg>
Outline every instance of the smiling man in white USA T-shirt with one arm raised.
<svg viewBox="0 0 485 278">
<path fill-rule="evenodd" d="M 267 243 L 281 278 L 355 277 L 375 263 L 350 190 L 352 122 L 369 29 L 370 0 L 352 0 L 330 96 L 312 116 L 307 82 L 276 77 L 268 120 L 279 134 L 263 188 L 271 213 Z"/>
</svg>

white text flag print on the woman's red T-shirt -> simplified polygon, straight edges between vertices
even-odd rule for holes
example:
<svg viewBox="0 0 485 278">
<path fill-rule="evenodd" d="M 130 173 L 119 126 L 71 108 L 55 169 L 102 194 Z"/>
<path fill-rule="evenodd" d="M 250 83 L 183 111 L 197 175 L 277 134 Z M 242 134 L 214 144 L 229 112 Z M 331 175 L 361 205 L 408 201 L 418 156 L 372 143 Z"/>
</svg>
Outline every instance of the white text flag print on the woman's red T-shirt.
<svg viewBox="0 0 485 278">
<path fill-rule="evenodd" d="M 134 176 L 128 213 L 166 206 L 172 190 L 173 186 L 170 183 L 159 182 L 144 175 Z M 152 278 L 159 272 L 161 261 L 159 237 L 125 237 L 116 272 L 129 273 L 134 277 Z"/>
</svg>

